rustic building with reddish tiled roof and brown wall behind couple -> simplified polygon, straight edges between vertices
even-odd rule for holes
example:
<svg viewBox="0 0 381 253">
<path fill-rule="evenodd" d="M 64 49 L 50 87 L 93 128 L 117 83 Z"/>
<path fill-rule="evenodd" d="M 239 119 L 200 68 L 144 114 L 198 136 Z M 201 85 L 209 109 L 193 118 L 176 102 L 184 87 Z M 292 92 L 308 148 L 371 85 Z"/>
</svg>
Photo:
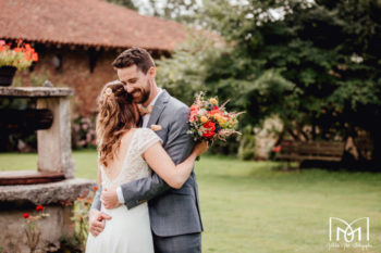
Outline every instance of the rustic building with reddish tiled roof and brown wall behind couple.
<svg viewBox="0 0 381 253">
<path fill-rule="evenodd" d="M 131 47 L 168 55 L 186 37 L 182 24 L 144 16 L 101 0 L 0 0 L 0 39 L 30 42 L 39 61 L 17 72 L 13 86 L 72 87 L 72 116 L 96 112 L 96 98 L 116 78 L 111 63 Z"/>
</svg>

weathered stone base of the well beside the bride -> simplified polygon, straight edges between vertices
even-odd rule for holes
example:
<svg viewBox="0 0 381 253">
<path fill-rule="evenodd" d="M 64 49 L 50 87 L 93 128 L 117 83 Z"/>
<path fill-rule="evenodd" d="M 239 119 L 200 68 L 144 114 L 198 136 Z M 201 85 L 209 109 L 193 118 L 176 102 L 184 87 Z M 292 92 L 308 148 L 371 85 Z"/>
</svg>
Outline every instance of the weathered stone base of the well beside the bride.
<svg viewBox="0 0 381 253">
<path fill-rule="evenodd" d="M 72 203 L 83 192 L 90 191 L 95 181 L 67 179 L 59 182 L 0 186 L 0 252 L 29 252 L 25 236 L 24 213 L 34 215 L 36 205 L 44 205 L 50 216 L 37 222 L 40 230 L 39 249 L 74 233 L 71 220 Z M 45 251 L 42 251 L 45 252 Z"/>
</svg>

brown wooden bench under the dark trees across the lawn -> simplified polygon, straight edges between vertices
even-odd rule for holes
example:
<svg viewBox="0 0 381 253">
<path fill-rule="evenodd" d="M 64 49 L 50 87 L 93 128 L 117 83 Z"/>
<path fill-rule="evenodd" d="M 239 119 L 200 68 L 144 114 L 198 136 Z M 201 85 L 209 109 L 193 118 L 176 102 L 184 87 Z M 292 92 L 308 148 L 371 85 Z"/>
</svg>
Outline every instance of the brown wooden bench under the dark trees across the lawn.
<svg viewBox="0 0 381 253">
<path fill-rule="evenodd" d="M 340 162 L 345 143 L 341 141 L 283 141 L 275 159 L 287 162 L 306 160 Z"/>
</svg>

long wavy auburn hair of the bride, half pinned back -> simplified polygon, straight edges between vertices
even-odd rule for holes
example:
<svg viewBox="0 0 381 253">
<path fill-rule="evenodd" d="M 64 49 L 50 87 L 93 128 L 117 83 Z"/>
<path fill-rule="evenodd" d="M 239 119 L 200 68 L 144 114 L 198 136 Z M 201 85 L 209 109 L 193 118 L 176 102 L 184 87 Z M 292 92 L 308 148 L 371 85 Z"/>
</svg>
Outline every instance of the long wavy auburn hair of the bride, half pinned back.
<svg viewBox="0 0 381 253">
<path fill-rule="evenodd" d="M 137 114 L 132 97 L 124 90 L 121 81 L 105 85 L 98 97 L 96 125 L 100 164 L 107 166 L 107 160 L 114 159 L 123 134 L 136 127 Z"/>
</svg>

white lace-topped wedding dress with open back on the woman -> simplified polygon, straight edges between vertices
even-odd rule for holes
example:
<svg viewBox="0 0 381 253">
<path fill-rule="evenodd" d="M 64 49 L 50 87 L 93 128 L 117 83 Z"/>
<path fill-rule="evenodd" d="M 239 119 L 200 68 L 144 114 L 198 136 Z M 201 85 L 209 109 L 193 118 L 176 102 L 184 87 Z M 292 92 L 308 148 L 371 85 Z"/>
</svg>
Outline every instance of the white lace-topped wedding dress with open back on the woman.
<svg viewBox="0 0 381 253">
<path fill-rule="evenodd" d="M 100 166 L 102 188 L 116 188 L 122 184 L 149 176 L 151 172 L 142 154 L 158 141 L 161 139 L 151 129 L 135 129 L 116 178 L 109 180 L 105 168 Z M 106 220 L 105 230 L 97 237 L 88 235 L 86 253 L 153 253 L 147 202 L 131 210 L 125 205 L 113 210 L 107 210 L 101 205 L 101 211 L 112 218 Z"/>
</svg>

